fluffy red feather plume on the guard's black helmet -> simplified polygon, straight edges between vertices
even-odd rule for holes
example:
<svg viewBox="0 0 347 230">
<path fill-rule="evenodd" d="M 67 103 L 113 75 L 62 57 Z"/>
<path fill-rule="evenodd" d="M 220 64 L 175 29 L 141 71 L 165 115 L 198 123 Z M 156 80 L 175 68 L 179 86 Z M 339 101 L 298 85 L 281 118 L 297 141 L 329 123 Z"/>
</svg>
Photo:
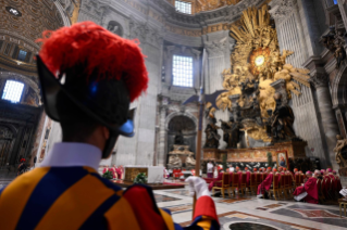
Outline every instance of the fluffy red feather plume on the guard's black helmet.
<svg viewBox="0 0 347 230">
<path fill-rule="evenodd" d="M 131 101 L 148 88 L 148 73 L 139 42 L 114 35 L 92 23 L 83 22 L 45 31 L 39 56 L 51 73 L 84 64 L 86 79 L 97 69 L 98 79 L 122 79 L 129 92 Z"/>
</svg>

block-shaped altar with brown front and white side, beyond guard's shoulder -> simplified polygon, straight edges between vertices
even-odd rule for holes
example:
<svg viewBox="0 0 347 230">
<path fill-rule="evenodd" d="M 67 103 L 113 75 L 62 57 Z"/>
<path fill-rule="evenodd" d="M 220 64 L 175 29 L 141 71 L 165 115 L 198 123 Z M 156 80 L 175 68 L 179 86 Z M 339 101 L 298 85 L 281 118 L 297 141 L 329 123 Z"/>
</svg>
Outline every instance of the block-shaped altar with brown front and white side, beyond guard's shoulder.
<svg viewBox="0 0 347 230">
<path fill-rule="evenodd" d="M 148 180 L 147 183 L 163 183 L 164 167 L 163 166 L 124 166 L 124 181 L 133 182 L 139 173 L 145 173 Z"/>
</svg>

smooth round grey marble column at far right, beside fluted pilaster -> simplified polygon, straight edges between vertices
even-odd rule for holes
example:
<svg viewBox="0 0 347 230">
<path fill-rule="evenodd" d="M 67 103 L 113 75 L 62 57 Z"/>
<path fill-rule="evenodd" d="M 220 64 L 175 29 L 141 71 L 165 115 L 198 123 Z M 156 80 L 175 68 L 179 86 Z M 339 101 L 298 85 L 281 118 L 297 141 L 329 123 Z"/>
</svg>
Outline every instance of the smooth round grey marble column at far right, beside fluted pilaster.
<svg viewBox="0 0 347 230">
<path fill-rule="evenodd" d="M 329 90 L 329 77 L 325 73 L 313 72 L 311 79 L 315 88 L 318 107 L 324 129 L 323 138 L 327 146 L 326 165 L 332 165 L 334 169 L 337 169 L 338 166 L 333 150 L 336 145 L 336 135 L 339 135 L 339 130 Z"/>
</svg>

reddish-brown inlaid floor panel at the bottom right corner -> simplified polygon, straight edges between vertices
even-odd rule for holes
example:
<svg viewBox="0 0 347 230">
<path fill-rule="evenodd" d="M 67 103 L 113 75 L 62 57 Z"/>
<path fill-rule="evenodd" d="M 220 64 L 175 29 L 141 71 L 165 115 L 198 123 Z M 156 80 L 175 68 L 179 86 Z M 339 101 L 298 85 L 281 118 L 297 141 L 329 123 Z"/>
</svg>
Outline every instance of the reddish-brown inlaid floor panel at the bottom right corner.
<svg viewBox="0 0 347 230">
<path fill-rule="evenodd" d="M 273 210 L 271 213 L 332 226 L 347 227 L 347 218 L 339 218 L 339 210 L 321 207 L 320 205 L 308 206 L 305 204 L 295 204 L 286 208 Z"/>
</svg>

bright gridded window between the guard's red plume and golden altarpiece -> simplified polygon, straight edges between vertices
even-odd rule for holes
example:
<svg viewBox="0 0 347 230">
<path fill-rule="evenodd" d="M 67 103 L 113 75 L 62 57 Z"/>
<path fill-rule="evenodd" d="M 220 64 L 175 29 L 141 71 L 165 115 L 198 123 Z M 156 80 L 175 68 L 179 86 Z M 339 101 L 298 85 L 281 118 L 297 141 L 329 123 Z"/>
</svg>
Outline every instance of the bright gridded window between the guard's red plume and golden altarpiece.
<svg viewBox="0 0 347 230">
<path fill-rule="evenodd" d="M 173 55 L 173 86 L 193 87 L 193 58 Z"/>
</svg>

